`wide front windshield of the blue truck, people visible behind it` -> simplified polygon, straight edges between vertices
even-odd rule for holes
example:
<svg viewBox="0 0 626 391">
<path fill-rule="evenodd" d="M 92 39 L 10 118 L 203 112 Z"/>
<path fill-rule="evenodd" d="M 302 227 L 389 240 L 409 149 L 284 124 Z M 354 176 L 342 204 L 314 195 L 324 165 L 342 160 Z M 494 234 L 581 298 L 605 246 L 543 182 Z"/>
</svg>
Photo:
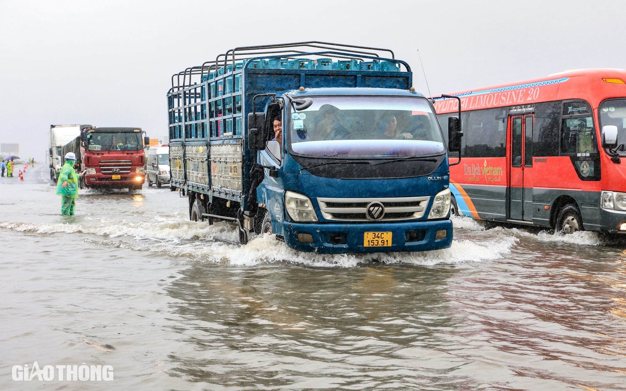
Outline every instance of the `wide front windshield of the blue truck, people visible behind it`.
<svg viewBox="0 0 626 391">
<path fill-rule="evenodd" d="M 297 155 L 356 159 L 441 155 L 441 130 L 419 97 L 319 96 L 288 118 Z"/>
</svg>

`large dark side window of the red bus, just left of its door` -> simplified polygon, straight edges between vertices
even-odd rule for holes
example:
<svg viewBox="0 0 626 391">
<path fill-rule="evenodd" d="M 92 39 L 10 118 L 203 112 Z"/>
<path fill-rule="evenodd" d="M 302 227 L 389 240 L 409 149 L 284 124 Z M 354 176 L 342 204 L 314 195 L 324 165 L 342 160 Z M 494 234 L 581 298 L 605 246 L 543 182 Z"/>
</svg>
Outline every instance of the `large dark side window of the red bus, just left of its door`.
<svg viewBox="0 0 626 391">
<path fill-rule="evenodd" d="M 506 156 L 506 108 L 464 112 L 463 157 Z"/>
</svg>

